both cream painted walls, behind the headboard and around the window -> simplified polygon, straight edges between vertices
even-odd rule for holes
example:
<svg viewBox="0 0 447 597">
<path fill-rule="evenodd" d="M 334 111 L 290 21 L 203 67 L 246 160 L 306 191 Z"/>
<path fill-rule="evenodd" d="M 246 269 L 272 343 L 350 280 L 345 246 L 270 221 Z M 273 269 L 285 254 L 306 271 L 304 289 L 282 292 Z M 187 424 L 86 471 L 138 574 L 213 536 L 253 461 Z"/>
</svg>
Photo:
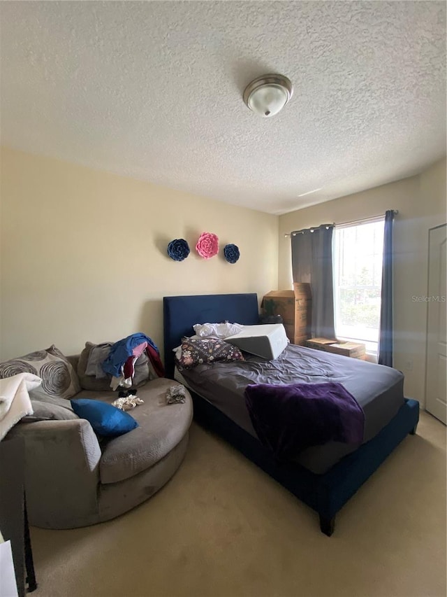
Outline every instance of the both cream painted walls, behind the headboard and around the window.
<svg viewBox="0 0 447 597">
<path fill-rule="evenodd" d="M 406 395 L 424 404 L 427 308 L 412 297 L 427 293 L 428 230 L 446 222 L 445 160 L 420 176 L 279 218 L 9 148 L 0 166 L 2 360 L 52 343 L 75 353 L 87 340 L 135 331 L 162 349 L 164 295 L 256 292 L 261 299 L 291 288 L 285 232 L 393 208 L 400 212 L 395 366 L 404 370 Z M 193 246 L 204 230 L 221 245 L 240 246 L 240 261 L 200 259 Z M 192 251 L 177 263 L 166 246 L 179 237 Z"/>
</svg>

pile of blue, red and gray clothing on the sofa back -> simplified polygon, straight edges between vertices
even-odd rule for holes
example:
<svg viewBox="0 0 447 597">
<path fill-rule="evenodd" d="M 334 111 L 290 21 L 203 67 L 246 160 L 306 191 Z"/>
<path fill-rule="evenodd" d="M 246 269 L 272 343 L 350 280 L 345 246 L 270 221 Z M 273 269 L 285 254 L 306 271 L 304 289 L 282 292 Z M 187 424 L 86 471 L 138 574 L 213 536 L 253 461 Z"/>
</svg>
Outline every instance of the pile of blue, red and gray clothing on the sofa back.
<svg viewBox="0 0 447 597">
<path fill-rule="evenodd" d="M 141 332 L 131 334 L 115 343 L 103 342 L 94 346 L 90 351 L 85 372 L 96 379 L 112 376 L 110 388 L 114 391 L 119 386 L 130 388 L 133 385 L 135 363 L 143 354 L 149 359 L 149 369 L 154 372 L 154 377 L 164 377 L 165 370 L 159 349 L 151 338 Z"/>
</svg>

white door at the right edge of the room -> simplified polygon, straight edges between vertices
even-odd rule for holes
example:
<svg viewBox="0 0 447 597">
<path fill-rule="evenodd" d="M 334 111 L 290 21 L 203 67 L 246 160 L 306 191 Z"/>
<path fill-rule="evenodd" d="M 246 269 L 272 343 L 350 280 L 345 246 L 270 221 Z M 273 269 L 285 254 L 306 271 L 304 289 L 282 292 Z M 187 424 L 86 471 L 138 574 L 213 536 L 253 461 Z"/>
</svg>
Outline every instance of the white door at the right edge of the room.
<svg viewBox="0 0 447 597">
<path fill-rule="evenodd" d="M 447 414 L 447 225 L 432 228 L 429 239 L 425 402 L 427 411 L 445 424 Z"/>
</svg>

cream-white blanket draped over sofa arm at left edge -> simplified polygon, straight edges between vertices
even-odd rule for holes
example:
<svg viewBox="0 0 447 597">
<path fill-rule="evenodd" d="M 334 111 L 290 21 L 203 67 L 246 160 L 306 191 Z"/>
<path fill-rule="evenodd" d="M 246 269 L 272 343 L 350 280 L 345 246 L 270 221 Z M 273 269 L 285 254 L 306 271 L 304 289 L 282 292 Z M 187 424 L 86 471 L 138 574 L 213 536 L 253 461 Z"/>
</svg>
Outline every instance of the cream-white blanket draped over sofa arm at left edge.
<svg viewBox="0 0 447 597">
<path fill-rule="evenodd" d="M 29 391 L 42 383 L 32 373 L 17 373 L 0 379 L 0 440 L 27 414 L 33 414 Z"/>
</svg>

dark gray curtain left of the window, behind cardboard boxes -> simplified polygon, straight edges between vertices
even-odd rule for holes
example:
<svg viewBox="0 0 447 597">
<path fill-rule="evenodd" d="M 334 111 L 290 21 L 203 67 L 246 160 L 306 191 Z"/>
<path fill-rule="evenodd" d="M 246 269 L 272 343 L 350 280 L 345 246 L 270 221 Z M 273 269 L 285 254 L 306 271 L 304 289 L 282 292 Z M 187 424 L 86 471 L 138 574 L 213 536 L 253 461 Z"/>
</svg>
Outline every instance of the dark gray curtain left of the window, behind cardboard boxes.
<svg viewBox="0 0 447 597">
<path fill-rule="evenodd" d="M 318 228 L 292 232 L 293 281 L 309 282 L 311 285 L 313 338 L 335 338 L 333 230 L 332 224 L 323 224 Z"/>
</svg>

